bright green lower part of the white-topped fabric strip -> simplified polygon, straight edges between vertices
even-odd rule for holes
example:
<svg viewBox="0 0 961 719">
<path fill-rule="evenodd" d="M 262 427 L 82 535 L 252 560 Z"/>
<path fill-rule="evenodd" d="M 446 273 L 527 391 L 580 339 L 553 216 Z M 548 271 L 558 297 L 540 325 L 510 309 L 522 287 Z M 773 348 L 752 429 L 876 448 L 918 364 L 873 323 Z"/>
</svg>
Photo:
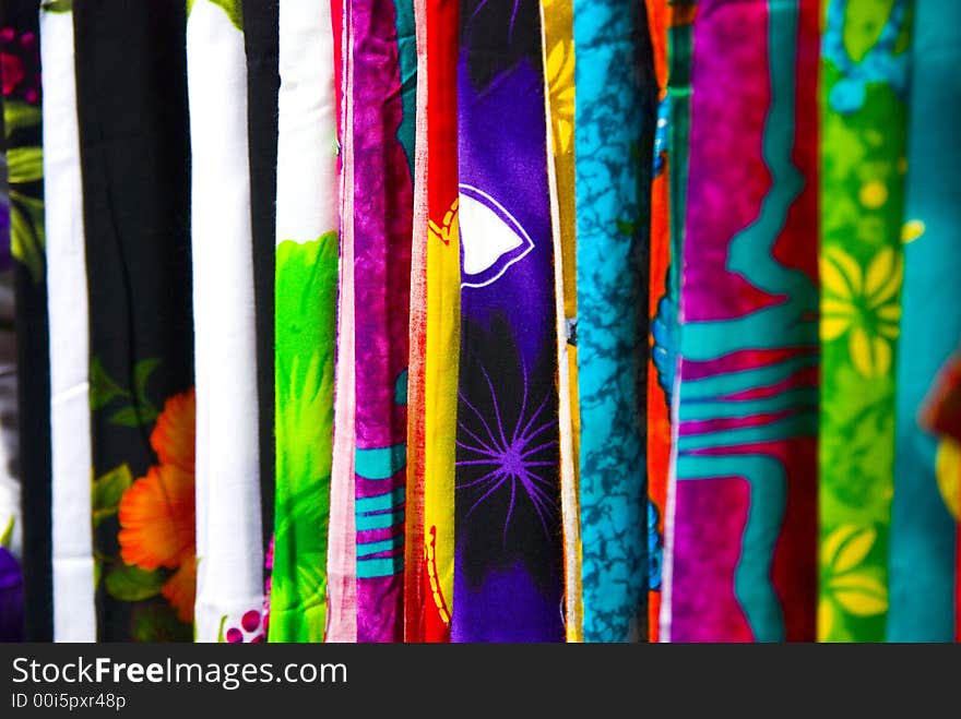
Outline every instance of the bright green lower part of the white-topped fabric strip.
<svg viewBox="0 0 961 719">
<path fill-rule="evenodd" d="M 321 640 L 333 439 L 337 238 L 277 245 L 276 529 L 271 636 Z"/>
</svg>

